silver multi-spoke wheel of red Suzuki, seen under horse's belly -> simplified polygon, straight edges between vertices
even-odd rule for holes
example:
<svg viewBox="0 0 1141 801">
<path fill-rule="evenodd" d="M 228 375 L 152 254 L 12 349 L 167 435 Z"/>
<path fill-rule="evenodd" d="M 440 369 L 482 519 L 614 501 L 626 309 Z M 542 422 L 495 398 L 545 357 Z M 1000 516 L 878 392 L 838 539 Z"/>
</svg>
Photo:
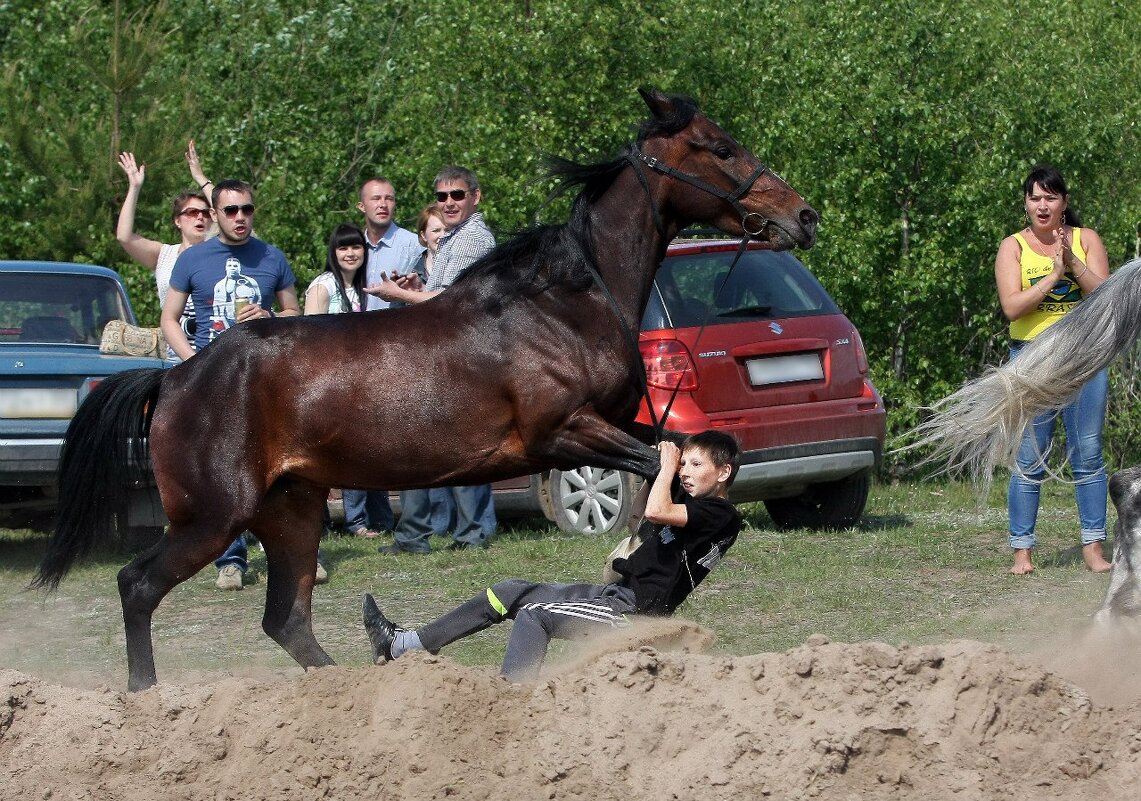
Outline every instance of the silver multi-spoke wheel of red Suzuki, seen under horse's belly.
<svg viewBox="0 0 1141 801">
<path fill-rule="evenodd" d="M 630 517 L 633 483 L 621 470 L 551 470 L 548 493 L 551 519 L 559 528 L 570 534 L 605 534 Z"/>
</svg>

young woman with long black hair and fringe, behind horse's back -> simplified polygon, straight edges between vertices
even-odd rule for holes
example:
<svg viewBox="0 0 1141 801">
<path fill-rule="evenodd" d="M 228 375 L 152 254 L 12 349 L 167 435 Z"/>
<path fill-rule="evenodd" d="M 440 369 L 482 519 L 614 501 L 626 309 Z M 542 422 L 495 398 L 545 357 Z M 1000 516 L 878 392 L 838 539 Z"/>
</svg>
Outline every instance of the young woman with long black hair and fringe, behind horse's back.
<svg viewBox="0 0 1141 801">
<path fill-rule="evenodd" d="M 325 272 L 314 278 L 305 291 L 305 313 L 309 315 L 359 312 L 361 302 L 365 298 L 364 275 L 367 260 L 364 232 L 351 222 L 337 226 L 329 237 Z M 364 490 L 341 491 L 345 503 L 345 528 L 354 536 L 373 539 L 379 535 L 369 528 L 367 495 Z M 391 515 L 391 508 L 388 513 Z"/>
</svg>

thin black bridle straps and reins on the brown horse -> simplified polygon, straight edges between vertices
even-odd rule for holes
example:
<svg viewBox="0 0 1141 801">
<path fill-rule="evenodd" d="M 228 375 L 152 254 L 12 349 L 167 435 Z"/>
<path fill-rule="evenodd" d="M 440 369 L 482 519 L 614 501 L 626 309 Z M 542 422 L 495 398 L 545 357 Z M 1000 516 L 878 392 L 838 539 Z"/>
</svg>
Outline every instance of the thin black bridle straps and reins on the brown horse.
<svg viewBox="0 0 1141 801">
<path fill-rule="evenodd" d="M 713 302 L 715 305 L 717 299 L 721 294 L 721 290 L 723 290 L 725 286 L 729 283 L 729 276 L 733 275 L 734 268 L 736 268 L 737 262 L 741 260 L 741 257 L 745 253 L 745 249 L 748 248 L 748 241 L 762 234 L 764 229 L 770 225 L 770 220 L 768 218 L 756 213 L 755 211 L 748 211 L 741 203 L 741 199 L 745 195 L 745 193 L 753 187 L 753 184 L 755 184 L 761 176 L 763 176 L 766 172 L 769 171 L 769 168 L 766 164 L 759 164 L 758 168 L 753 170 L 753 173 L 745 180 L 741 181 L 735 189 L 733 189 L 731 192 L 726 192 L 725 189 L 713 186 L 712 184 L 709 184 L 696 176 L 691 176 L 687 172 L 681 172 L 680 170 L 675 170 L 674 168 L 659 161 L 658 159 L 655 159 L 654 156 L 644 153 L 636 145 L 631 146 L 630 152 L 626 153 L 625 157 L 626 161 L 630 162 L 630 165 L 633 168 L 634 175 L 638 177 L 638 183 L 641 184 L 642 191 L 646 193 L 647 200 L 649 200 L 650 212 L 654 216 L 654 227 L 657 229 L 657 233 L 662 236 L 663 240 L 665 240 L 667 236 L 665 232 L 665 226 L 662 225 L 662 216 L 658 213 L 657 203 L 654 202 L 654 196 L 650 193 L 649 179 L 642 171 L 641 163 L 639 163 L 639 161 L 645 163 L 652 170 L 661 172 L 663 176 L 666 176 L 667 178 L 680 180 L 683 184 L 689 184 L 690 186 L 701 189 L 702 192 L 705 192 L 707 194 L 711 194 L 714 197 L 720 197 L 721 200 L 729 203 L 737 211 L 737 213 L 741 215 L 741 227 L 745 232 L 746 236 L 742 237 L 741 240 L 741 246 L 737 248 L 737 254 L 734 257 L 733 264 L 729 265 L 729 270 L 728 273 L 726 273 L 725 281 L 721 283 L 721 286 L 717 288 L 717 292 L 713 298 Z M 752 228 L 750 227 L 750 224 L 752 224 L 753 226 Z M 670 394 L 670 400 L 669 403 L 665 404 L 665 408 L 662 411 L 662 418 L 659 420 L 657 413 L 654 411 L 654 404 L 653 402 L 650 402 L 649 398 L 649 382 L 646 379 L 646 365 L 641 359 L 641 351 L 640 348 L 638 347 L 638 335 L 626 323 L 625 317 L 622 316 L 622 309 L 618 306 L 618 301 L 614 299 L 614 296 L 610 293 L 610 290 L 606 285 L 606 282 L 602 281 L 602 276 L 598 272 L 598 267 L 594 266 L 594 260 L 588 259 L 586 267 L 590 269 L 591 276 L 593 277 L 594 282 L 601 288 L 602 294 L 606 296 L 606 299 L 610 304 L 610 308 L 614 309 L 614 314 L 617 316 L 618 322 L 622 324 L 622 332 L 625 335 L 626 346 L 636 355 L 636 358 L 638 361 L 637 373 L 638 373 L 639 388 L 641 389 L 641 393 L 646 398 L 646 408 L 649 411 L 649 419 L 654 427 L 654 443 L 658 444 L 662 442 L 662 435 L 665 431 L 665 421 L 669 420 L 670 418 L 670 410 L 673 408 L 673 402 L 678 397 L 678 390 L 681 389 L 681 378 L 678 379 L 677 386 L 674 386 L 673 391 Z M 705 332 L 705 326 L 709 325 L 709 318 L 710 315 L 706 314 L 705 319 L 702 321 L 702 325 L 697 330 L 697 338 L 694 340 L 695 346 L 701 340 L 702 334 Z"/>
</svg>

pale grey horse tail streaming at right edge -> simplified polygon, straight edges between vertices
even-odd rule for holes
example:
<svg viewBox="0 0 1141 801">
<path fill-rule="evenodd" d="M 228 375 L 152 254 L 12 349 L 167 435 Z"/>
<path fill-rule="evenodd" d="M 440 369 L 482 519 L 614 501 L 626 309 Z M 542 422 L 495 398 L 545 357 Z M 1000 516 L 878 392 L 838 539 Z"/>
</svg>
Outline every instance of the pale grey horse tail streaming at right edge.
<svg viewBox="0 0 1141 801">
<path fill-rule="evenodd" d="M 931 415 L 898 451 L 932 448 L 920 464 L 965 472 L 988 483 L 995 467 L 1012 464 L 1022 431 L 1038 414 L 1062 408 L 1082 386 L 1141 335 L 1141 259 L 1134 259 L 1017 358 L 987 367 L 953 395 L 929 407 Z"/>
</svg>

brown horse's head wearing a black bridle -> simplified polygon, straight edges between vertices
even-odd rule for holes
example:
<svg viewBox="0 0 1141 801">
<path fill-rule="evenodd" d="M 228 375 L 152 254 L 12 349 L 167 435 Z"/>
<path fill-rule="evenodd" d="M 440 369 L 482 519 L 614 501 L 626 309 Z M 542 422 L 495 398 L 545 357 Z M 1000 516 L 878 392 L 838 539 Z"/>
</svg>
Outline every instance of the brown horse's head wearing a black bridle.
<svg viewBox="0 0 1141 801">
<path fill-rule="evenodd" d="M 734 236 L 767 241 L 774 250 L 812 246 L 820 216 L 788 184 L 693 100 L 638 91 L 653 119 L 642 123 L 628 159 L 639 172 L 648 167 L 669 179 L 659 181 L 656 202 L 672 212 L 677 230 L 701 220 Z M 648 188 L 645 177 L 642 183 Z"/>
</svg>

